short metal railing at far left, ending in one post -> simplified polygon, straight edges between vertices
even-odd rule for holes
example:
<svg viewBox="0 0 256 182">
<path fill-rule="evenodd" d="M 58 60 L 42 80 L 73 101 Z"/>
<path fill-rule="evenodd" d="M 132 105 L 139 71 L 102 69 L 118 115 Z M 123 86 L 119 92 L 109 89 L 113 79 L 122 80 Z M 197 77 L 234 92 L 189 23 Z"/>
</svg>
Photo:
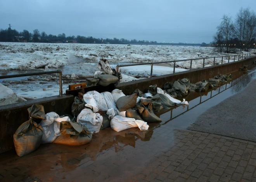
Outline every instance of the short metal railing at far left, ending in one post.
<svg viewBox="0 0 256 182">
<path fill-rule="evenodd" d="M 36 72 L 36 73 L 23 73 L 23 74 L 17 74 L 17 75 L 3 75 L 0 76 L 0 79 L 5 79 L 5 78 L 16 78 L 16 77 L 28 77 L 28 76 L 35 76 L 35 75 L 48 75 L 52 73 L 59 73 L 59 85 L 60 85 L 60 93 L 58 97 L 62 97 L 63 92 L 62 92 L 62 71 L 61 70 L 56 70 L 56 71 L 42 71 L 42 72 Z"/>
</svg>

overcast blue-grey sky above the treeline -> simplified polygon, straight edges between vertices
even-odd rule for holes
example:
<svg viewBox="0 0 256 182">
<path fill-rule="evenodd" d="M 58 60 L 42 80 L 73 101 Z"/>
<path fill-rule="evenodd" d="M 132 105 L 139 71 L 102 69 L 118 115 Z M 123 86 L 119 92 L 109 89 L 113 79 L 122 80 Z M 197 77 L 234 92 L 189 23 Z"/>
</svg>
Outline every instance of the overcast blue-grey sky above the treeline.
<svg viewBox="0 0 256 182">
<path fill-rule="evenodd" d="M 0 28 L 47 34 L 209 43 L 223 14 L 256 0 L 0 0 Z"/>
</svg>

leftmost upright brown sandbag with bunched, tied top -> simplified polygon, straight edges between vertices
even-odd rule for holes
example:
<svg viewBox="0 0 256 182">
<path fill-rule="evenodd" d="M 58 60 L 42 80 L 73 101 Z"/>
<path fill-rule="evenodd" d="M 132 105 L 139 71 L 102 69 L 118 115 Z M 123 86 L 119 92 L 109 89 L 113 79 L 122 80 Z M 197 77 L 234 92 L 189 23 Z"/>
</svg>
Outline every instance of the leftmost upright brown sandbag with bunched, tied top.
<svg viewBox="0 0 256 182">
<path fill-rule="evenodd" d="M 24 156 L 38 149 L 42 142 L 43 128 L 33 118 L 45 119 L 43 105 L 34 104 L 28 108 L 29 120 L 22 123 L 13 135 L 18 156 Z"/>
</svg>

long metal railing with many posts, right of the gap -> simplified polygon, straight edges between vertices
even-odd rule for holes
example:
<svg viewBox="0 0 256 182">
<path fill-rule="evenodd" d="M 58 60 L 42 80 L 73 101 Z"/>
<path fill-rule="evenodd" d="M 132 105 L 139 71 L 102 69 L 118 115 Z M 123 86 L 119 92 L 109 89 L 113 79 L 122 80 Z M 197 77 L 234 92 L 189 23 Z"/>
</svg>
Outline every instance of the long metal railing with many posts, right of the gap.
<svg viewBox="0 0 256 182">
<path fill-rule="evenodd" d="M 247 58 L 251 58 L 251 57 L 255 57 L 256 53 L 247 53 L 247 54 L 237 54 L 234 55 L 234 62 L 235 62 L 235 58 L 238 56 L 238 61 L 243 60 L 243 59 L 247 59 Z M 242 56 L 242 58 L 240 59 L 240 57 Z M 195 59 L 187 59 L 187 60 L 176 60 L 176 61 L 162 61 L 162 62 L 150 62 L 150 63 L 137 63 L 137 64 L 130 64 L 130 65 L 116 65 L 116 77 L 119 76 L 119 68 L 120 67 L 126 67 L 126 66 L 138 66 L 138 65 L 151 65 L 151 71 L 150 71 L 150 78 L 152 78 L 153 75 L 153 65 L 154 64 L 159 64 L 159 63 L 173 63 L 173 74 L 175 74 L 175 64 L 176 62 L 181 62 L 181 61 L 190 61 L 190 68 L 189 70 L 192 70 L 192 61 L 195 60 L 203 60 L 203 65 L 202 68 L 204 68 L 204 62 L 206 59 L 213 59 L 213 66 L 215 65 L 215 59 L 216 58 L 221 58 L 221 65 L 223 64 L 223 58 L 227 58 L 228 57 L 228 63 L 230 62 L 230 57 L 233 56 L 216 56 L 216 57 L 210 57 L 210 58 L 195 58 Z M 225 64 L 225 63 L 224 63 Z M 209 66 L 210 67 L 210 66 Z M 118 85 L 119 81 L 116 82 L 116 84 Z"/>
</svg>

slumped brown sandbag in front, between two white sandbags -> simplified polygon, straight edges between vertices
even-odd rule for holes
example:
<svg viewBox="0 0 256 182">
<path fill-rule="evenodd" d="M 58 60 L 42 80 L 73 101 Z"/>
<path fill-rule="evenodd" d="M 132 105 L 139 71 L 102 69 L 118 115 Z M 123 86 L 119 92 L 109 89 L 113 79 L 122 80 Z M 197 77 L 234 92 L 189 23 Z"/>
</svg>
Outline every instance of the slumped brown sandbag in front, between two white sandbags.
<svg viewBox="0 0 256 182">
<path fill-rule="evenodd" d="M 92 133 L 85 126 L 74 121 L 62 121 L 60 131 L 61 136 L 56 138 L 54 143 L 80 146 L 92 140 Z"/>
</svg>

